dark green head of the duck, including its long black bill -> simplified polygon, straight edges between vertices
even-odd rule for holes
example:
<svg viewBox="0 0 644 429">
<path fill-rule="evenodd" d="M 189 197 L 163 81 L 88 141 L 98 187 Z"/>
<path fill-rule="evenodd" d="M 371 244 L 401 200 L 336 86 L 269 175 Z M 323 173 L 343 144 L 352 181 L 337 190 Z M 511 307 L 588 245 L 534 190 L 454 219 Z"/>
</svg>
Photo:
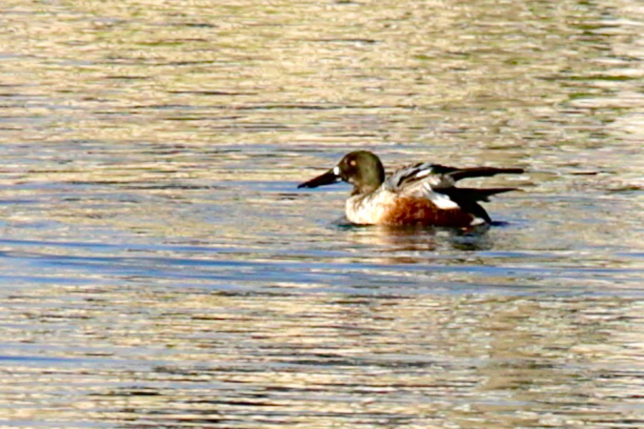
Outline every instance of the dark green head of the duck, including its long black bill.
<svg viewBox="0 0 644 429">
<path fill-rule="evenodd" d="M 301 183 L 298 188 L 317 188 L 341 180 L 354 185 L 352 195 L 373 192 L 384 181 L 383 163 L 372 152 L 351 152 L 346 154 L 336 167 L 317 178 Z"/>
</svg>

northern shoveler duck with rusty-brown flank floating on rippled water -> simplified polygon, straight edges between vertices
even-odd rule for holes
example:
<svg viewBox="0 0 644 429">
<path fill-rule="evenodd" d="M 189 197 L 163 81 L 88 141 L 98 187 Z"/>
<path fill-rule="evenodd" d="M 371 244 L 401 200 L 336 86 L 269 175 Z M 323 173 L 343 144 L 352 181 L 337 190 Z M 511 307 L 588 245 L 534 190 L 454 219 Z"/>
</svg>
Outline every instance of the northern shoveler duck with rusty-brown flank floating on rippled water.
<svg viewBox="0 0 644 429">
<path fill-rule="evenodd" d="M 385 176 L 383 163 L 368 151 L 355 151 L 331 170 L 298 188 L 316 188 L 346 181 L 354 190 L 346 200 L 346 218 L 354 224 L 450 226 L 464 228 L 489 224 L 478 201 L 517 188 L 457 188 L 460 179 L 520 174 L 523 169 L 474 167 L 459 169 L 418 163 Z"/>
</svg>

